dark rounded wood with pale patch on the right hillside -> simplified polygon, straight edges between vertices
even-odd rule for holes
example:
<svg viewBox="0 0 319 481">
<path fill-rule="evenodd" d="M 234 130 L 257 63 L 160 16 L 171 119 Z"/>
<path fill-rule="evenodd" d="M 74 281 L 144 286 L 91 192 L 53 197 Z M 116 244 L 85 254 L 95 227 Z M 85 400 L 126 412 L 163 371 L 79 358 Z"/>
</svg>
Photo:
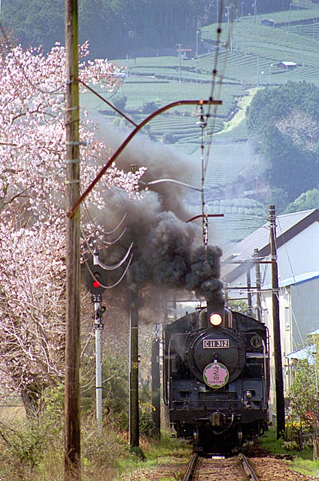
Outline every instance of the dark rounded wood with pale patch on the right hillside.
<svg viewBox="0 0 319 481">
<path fill-rule="evenodd" d="M 315 85 L 287 82 L 259 91 L 247 111 L 250 139 L 267 162 L 265 178 L 288 201 L 318 186 L 318 102 Z"/>
</svg>

